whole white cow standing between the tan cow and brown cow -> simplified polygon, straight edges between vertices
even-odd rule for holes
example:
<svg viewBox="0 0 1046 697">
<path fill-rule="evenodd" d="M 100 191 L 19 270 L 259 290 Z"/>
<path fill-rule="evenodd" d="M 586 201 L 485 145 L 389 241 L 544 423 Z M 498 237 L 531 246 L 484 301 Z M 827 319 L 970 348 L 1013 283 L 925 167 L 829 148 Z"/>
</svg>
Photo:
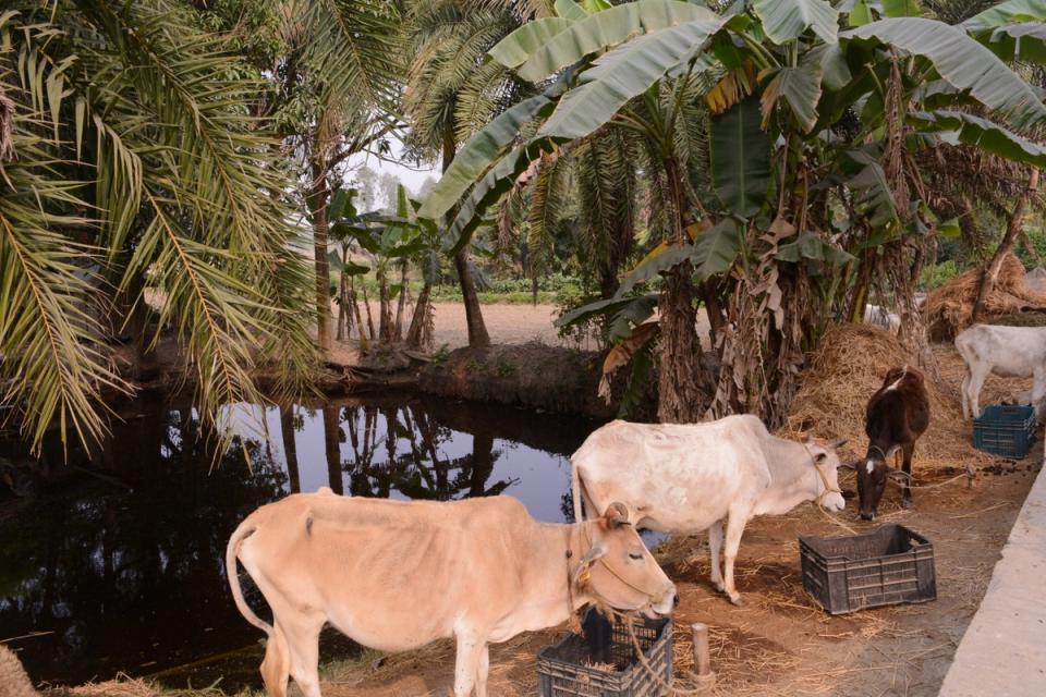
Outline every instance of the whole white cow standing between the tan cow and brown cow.
<svg viewBox="0 0 1046 697">
<path fill-rule="evenodd" d="M 835 449 L 771 436 L 752 415 L 707 424 L 613 421 L 593 432 L 571 457 L 574 515 L 611 501 L 629 508 L 636 527 L 692 535 L 708 530 L 711 583 L 734 604 L 733 560 L 744 526 L 756 515 L 781 515 L 816 500 L 841 511 Z M 719 549 L 726 523 L 726 580 Z"/>
</svg>

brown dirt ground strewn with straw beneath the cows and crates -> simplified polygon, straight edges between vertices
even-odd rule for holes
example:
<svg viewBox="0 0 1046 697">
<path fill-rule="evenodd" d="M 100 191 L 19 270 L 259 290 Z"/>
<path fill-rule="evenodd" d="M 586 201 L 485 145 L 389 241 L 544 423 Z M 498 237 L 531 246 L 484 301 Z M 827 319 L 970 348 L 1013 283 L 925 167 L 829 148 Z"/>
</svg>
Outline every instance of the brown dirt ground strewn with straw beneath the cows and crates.
<svg viewBox="0 0 1046 697">
<path fill-rule="evenodd" d="M 983 472 L 972 489 L 960 479 L 915 490 L 915 506 L 908 511 L 900 508 L 895 490 L 880 505 L 875 524 L 854 519 L 852 503 L 838 518 L 856 530 L 901 523 L 927 537 L 934 543 L 937 570 L 934 602 L 839 616 L 820 610 L 803 590 L 796 539 L 847 531 L 813 504 L 749 525 L 737 561 L 743 607 L 730 604 L 708 583 L 704 536 L 667 542 L 657 555 L 682 598 L 674 615 L 679 686 L 691 686 L 685 670 L 693 664 L 692 645 L 685 627 L 704 622 L 710 627 L 717 673 L 709 695 L 936 695 L 1042 460 L 1039 440 L 1026 460 Z M 843 481 L 843 488 L 854 486 L 852 480 Z M 565 628 L 559 627 L 494 647 L 490 694 L 536 694 L 534 657 L 564 634 Z M 442 697 L 452 682 L 453 646 L 448 641 L 333 669 L 324 695 Z"/>
</svg>

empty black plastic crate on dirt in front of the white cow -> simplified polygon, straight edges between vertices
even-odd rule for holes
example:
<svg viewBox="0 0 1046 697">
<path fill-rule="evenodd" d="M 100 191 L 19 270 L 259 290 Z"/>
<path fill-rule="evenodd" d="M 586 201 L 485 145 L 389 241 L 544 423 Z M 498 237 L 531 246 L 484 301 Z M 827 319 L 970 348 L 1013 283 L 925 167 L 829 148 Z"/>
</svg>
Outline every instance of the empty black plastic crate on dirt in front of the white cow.
<svg viewBox="0 0 1046 697">
<path fill-rule="evenodd" d="M 934 546 L 903 525 L 799 538 L 803 588 L 831 614 L 937 599 Z"/>
</svg>

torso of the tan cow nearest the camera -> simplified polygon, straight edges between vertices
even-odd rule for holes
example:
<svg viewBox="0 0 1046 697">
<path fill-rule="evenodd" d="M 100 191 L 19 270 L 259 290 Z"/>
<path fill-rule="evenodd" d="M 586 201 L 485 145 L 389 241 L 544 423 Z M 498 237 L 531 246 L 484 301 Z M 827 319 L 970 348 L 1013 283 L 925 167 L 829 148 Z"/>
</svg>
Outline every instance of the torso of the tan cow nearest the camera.
<svg viewBox="0 0 1046 697">
<path fill-rule="evenodd" d="M 537 526 L 509 497 L 402 502 L 330 493 L 288 497 L 248 523 L 256 530 L 241 560 L 270 604 L 293 599 L 297 611 L 325 612 L 382 650 L 448 636 L 470 608 L 510 606 L 520 546 Z"/>
</svg>

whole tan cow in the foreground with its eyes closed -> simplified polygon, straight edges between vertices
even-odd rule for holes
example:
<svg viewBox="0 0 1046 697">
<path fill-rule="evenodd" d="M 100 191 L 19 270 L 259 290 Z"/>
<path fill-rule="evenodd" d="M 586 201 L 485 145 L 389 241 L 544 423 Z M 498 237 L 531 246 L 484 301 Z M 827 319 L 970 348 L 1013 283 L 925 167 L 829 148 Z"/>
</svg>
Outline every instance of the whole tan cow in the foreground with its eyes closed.
<svg viewBox="0 0 1046 697">
<path fill-rule="evenodd" d="M 262 676 L 284 697 L 293 676 L 319 697 L 318 639 L 330 623 L 384 651 L 458 643 L 454 695 L 487 694 L 489 643 L 567 621 L 600 600 L 667 614 L 676 587 L 610 505 L 588 523 L 537 523 L 510 497 L 452 502 L 348 498 L 330 489 L 264 505 L 236 528 L 226 553 L 236 607 L 268 635 Z M 236 559 L 272 609 L 247 607 Z"/>
</svg>

